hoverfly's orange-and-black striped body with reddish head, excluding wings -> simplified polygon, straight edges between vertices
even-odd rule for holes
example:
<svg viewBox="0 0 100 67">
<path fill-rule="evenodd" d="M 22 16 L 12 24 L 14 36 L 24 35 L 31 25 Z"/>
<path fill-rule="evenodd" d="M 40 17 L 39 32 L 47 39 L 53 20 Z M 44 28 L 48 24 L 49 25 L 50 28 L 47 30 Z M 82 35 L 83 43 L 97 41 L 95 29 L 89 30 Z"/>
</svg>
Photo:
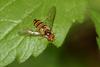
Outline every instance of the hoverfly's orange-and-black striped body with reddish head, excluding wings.
<svg viewBox="0 0 100 67">
<path fill-rule="evenodd" d="M 34 22 L 34 25 L 35 25 L 37 31 L 41 35 L 43 35 L 45 38 L 47 38 L 48 41 L 53 41 L 54 40 L 55 35 L 51 32 L 50 27 L 43 24 L 43 22 L 41 22 L 40 20 L 37 20 L 37 19 L 35 19 L 33 22 Z"/>
</svg>

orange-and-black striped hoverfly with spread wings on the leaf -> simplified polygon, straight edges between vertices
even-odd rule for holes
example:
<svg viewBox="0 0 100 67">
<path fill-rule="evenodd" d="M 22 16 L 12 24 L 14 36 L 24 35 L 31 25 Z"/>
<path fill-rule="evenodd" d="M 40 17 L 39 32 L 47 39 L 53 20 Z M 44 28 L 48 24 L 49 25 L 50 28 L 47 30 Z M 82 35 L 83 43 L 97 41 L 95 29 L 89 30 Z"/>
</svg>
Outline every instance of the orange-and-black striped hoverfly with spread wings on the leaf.
<svg viewBox="0 0 100 67">
<path fill-rule="evenodd" d="M 36 27 L 36 31 L 33 32 L 31 30 L 28 30 L 27 33 L 31 35 L 45 37 L 48 41 L 54 41 L 55 35 L 52 32 L 52 27 L 53 27 L 55 15 L 56 15 L 56 7 L 53 6 L 49 10 L 44 22 L 42 22 L 39 19 L 33 20 L 33 24 Z"/>
</svg>

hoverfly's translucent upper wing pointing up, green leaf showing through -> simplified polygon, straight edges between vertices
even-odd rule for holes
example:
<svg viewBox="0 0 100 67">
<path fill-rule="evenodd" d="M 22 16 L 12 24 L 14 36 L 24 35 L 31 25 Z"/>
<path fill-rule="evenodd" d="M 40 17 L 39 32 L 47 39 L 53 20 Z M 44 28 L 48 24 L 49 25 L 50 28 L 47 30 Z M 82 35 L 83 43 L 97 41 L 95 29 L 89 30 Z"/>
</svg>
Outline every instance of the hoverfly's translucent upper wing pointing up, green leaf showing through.
<svg viewBox="0 0 100 67">
<path fill-rule="evenodd" d="M 44 20 L 44 22 L 50 27 L 51 30 L 52 30 L 52 27 L 53 27 L 53 22 L 54 22 L 54 19 L 55 19 L 55 15 L 56 15 L 56 7 L 53 6 L 48 11 L 46 19 Z"/>
</svg>

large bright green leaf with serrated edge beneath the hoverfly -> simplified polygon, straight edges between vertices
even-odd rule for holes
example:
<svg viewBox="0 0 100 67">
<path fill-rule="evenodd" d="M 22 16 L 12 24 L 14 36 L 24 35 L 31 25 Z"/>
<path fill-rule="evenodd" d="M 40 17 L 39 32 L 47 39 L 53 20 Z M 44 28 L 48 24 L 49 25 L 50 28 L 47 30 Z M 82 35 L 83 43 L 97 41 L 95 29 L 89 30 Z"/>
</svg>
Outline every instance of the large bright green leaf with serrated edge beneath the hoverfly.
<svg viewBox="0 0 100 67">
<path fill-rule="evenodd" d="M 45 50 L 49 43 L 47 39 L 19 34 L 25 29 L 35 30 L 33 19 L 43 20 L 48 10 L 56 6 L 53 44 L 60 47 L 72 23 L 83 20 L 86 5 L 85 0 L 0 0 L 0 66 L 15 58 L 24 62 Z"/>
</svg>

